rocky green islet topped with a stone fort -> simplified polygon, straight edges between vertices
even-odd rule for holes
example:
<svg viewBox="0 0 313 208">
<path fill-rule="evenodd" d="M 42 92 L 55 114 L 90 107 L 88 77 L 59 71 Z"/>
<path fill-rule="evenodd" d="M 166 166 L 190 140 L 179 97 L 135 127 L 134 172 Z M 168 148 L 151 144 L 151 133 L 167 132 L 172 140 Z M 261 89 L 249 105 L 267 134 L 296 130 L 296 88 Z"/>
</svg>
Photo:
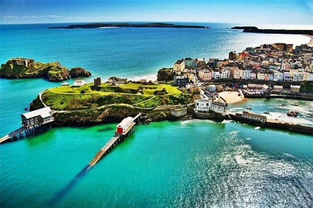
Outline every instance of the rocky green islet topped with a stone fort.
<svg viewBox="0 0 313 208">
<path fill-rule="evenodd" d="M 0 78 L 29 79 L 45 78 L 50 82 L 62 82 L 77 77 L 90 77 L 91 73 L 84 68 L 75 67 L 70 70 L 59 62 L 34 62 L 33 59 L 14 58 L 1 64 Z"/>
</svg>

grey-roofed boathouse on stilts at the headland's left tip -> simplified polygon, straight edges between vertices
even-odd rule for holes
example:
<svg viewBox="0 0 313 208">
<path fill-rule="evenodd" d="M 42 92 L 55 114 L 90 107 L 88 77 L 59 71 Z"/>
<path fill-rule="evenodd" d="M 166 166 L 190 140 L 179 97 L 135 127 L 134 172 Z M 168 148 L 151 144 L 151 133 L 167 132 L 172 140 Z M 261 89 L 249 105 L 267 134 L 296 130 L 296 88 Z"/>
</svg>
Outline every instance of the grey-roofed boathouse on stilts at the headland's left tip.
<svg viewBox="0 0 313 208">
<path fill-rule="evenodd" d="M 54 121 L 50 107 L 40 108 L 38 110 L 23 113 L 22 125 L 28 130 L 41 127 Z"/>
</svg>

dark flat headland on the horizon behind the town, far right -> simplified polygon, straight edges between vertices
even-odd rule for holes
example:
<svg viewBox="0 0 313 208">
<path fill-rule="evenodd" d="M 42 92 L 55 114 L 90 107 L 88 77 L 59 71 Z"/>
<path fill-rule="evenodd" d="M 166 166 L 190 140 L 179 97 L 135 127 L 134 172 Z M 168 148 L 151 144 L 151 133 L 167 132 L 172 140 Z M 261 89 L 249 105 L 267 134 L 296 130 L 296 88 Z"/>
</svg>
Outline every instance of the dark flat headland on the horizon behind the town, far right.
<svg viewBox="0 0 313 208">
<path fill-rule="evenodd" d="M 259 29 L 253 26 L 236 26 L 231 29 L 241 29 L 246 33 L 268 33 L 268 34 L 293 34 L 293 35 L 313 35 L 313 30 L 282 30 L 282 29 Z"/>
</svg>

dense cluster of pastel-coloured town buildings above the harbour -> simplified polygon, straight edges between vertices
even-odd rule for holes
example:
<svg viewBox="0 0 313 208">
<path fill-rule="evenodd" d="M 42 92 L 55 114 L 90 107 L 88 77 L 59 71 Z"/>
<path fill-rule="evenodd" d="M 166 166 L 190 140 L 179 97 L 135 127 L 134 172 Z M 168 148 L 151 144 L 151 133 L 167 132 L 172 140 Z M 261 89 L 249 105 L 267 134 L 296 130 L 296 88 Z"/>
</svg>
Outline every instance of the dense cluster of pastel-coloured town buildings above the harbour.
<svg viewBox="0 0 313 208">
<path fill-rule="evenodd" d="M 236 53 L 231 51 L 228 59 L 209 58 L 178 60 L 173 66 L 176 75 L 188 76 L 190 81 L 200 78 L 210 81 L 233 78 L 236 83 L 241 80 L 272 81 L 272 82 L 302 82 L 313 81 L 313 47 L 308 45 L 274 43 L 259 47 L 247 47 Z M 175 84 L 178 84 L 176 78 Z"/>
</svg>

